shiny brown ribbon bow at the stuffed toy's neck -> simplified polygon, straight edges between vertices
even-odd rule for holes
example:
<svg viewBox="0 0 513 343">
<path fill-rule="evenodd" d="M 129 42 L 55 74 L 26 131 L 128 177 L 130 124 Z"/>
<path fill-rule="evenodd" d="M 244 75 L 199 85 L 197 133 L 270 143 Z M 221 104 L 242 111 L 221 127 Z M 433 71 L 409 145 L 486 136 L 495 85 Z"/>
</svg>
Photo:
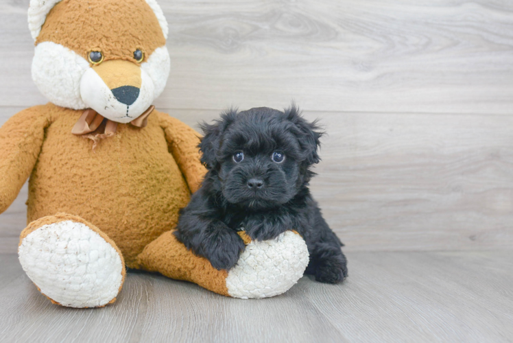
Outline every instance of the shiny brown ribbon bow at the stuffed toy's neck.
<svg viewBox="0 0 513 343">
<path fill-rule="evenodd" d="M 148 117 L 152 114 L 154 108 L 155 106 L 150 106 L 142 115 L 130 121 L 130 123 L 137 128 L 144 128 L 147 126 Z M 77 123 L 75 123 L 71 133 L 77 136 L 84 135 L 84 137 L 91 139 L 94 142 L 94 150 L 100 139 L 111 137 L 116 133 L 117 124 L 116 121 L 106 119 L 93 110 L 93 108 L 88 108 L 84 110 L 84 113 L 82 113 Z"/>
</svg>

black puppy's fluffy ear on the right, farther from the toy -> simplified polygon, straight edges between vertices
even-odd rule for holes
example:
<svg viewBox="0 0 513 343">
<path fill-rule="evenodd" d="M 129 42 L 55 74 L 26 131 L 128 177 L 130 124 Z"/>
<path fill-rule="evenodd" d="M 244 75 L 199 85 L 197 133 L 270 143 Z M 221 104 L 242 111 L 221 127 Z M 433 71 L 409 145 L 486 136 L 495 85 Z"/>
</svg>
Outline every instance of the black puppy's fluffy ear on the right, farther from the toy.
<svg viewBox="0 0 513 343">
<path fill-rule="evenodd" d="M 292 104 L 290 108 L 285 109 L 285 116 L 298 128 L 296 137 L 298 137 L 300 149 L 305 157 L 305 161 L 309 165 L 319 163 L 320 157 L 317 151 L 320 147 L 319 139 L 324 132 L 320 131 L 320 128 L 317 126 L 317 121 L 310 123 L 305 118 L 301 117 L 301 112 L 296 104 Z"/>
</svg>

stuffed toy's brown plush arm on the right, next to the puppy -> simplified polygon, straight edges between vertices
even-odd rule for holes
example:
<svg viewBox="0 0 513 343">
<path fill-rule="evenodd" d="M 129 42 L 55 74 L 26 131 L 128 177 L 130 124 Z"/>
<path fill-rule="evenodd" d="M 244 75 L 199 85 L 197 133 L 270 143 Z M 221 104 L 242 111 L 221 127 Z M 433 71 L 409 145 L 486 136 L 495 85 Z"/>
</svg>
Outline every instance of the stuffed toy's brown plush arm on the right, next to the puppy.
<svg viewBox="0 0 513 343">
<path fill-rule="evenodd" d="M 165 132 L 169 152 L 173 155 L 178 167 L 187 180 L 191 193 L 200 188 L 206 174 L 205 167 L 200 163 L 200 134 L 166 113 L 154 111 L 158 115 L 160 126 Z"/>
</svg>

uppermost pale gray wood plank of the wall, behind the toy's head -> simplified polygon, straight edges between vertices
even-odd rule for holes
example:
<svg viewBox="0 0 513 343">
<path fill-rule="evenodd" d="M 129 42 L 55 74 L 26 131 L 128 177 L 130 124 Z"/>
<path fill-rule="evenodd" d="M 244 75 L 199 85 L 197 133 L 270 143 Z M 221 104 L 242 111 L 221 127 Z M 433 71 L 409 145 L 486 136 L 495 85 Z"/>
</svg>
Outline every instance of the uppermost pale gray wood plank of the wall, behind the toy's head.
<svg viewBox="0 0 513 343">
<path fill-rule="evenodd" d="M 503 113 L 513 3 L 160 0 L 171 76 L 161 108 Z M 28 0 L 0 8 L 0 106 L 45 102 L 30 77 Z"/>
</svg>

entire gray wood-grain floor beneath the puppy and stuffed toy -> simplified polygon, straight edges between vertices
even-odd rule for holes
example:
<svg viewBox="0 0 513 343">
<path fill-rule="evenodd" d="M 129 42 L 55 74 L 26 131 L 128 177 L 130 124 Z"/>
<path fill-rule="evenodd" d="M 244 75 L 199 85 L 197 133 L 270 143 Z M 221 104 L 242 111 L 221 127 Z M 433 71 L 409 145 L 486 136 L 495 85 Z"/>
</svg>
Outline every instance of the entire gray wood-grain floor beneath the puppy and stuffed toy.
<svg viewBox="0 0 513 343">
<path fill-rule="evenodd" d="M 350 277 L 226 298 L 129 273 L 113 306 L 52 305 L 0 255 L 5 342 L 510 342 L 513 252 L 350 252 Z"/>
</svg>

